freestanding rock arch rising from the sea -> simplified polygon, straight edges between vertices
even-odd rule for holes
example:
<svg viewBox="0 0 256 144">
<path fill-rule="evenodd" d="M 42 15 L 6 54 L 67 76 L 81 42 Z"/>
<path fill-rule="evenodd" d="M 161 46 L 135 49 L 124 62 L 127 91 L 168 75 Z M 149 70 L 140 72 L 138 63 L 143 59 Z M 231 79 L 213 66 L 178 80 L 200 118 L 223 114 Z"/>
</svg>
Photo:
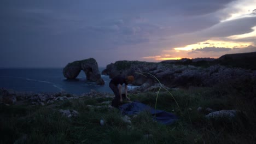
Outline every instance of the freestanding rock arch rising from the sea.
<svg viewBox="0 0 256 144">
<path fill-rule="evenodd" d="M 94 58 L 68 63 L 63 69 L 63 75 L 67 79 L 75 79 L 81 70 L 84 71 L 87 80 L 96 82 L 97 85 L 104 85 L 104 80 L 101 78 L 98 64 Z"/>
</svg>

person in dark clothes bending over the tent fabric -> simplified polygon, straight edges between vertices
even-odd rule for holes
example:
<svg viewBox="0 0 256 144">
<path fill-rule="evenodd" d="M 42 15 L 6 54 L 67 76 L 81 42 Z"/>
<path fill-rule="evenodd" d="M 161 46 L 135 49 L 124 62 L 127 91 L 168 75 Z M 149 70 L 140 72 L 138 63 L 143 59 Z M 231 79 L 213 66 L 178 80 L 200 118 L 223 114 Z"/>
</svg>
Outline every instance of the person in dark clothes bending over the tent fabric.
<svg viewBox="0 0 256 144">
<path fill-rule="evenodd" d="M 127 97 L 127 85 L 129 83 L 132 83 L 134 81 L 134 77 L 132 75 L 123 77 L 121 75 L 113 77 L 113 79 L 109 82 L 109 87 L 112 89 L 112 91 L 115 94 L 115 98 L 112 100 L 112 106 L 119 107 L 120 103 L 123 103 L 122 98 L 122 87 L 125 83 L 125 98 L 126 100 L 130 100 Z"/>
</svg>

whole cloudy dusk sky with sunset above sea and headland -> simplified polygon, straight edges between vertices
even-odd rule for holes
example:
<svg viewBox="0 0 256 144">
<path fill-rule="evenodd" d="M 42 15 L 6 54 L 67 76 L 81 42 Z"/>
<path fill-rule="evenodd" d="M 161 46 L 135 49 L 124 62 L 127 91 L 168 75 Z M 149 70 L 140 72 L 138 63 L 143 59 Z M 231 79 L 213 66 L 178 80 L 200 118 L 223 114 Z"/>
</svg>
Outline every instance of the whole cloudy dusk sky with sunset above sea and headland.
<svg viewBox="0 0 256 144">
<path fill-rule="evenodd" d="M 256 0 L 1 0 L 0 68 L 256 51 Z"/>
</svg>

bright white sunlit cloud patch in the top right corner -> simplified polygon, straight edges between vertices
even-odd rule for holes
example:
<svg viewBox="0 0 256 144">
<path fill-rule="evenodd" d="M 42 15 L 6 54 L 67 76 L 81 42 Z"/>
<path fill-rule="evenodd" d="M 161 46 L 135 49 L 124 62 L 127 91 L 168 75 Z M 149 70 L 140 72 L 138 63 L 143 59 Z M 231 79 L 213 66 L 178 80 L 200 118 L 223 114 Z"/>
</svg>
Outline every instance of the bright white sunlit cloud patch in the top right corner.
<svg viewBox="0 0 256 144">
<path fill-rule="evenodd" d="M 254 17 L 256 15 L 253 15 L 253 10 L 256 9 L 256 0 L 246 0 L 246 1 L 236 1 L 232 3 L 230 7 L 227 9 L 235 9 L 232 11 L 230 14 L 230 17 L 227 19 L 221 21 L 229 21 L 229 20 L 234 20 L 234 19 L 239 19 L 242 17 Z"/>
</svg>

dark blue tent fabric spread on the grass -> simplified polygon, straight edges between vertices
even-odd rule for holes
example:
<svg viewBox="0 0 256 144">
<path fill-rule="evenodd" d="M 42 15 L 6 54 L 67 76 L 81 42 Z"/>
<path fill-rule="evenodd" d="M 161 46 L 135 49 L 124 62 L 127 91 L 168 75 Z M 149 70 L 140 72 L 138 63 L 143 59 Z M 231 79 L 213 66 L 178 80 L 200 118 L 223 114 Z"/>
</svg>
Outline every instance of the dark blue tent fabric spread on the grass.
<svg viewBox="0 0 256 144">
<path fill-rule="evenodd" d="M 121 105 L 119 106 L 119 110 L 123 115 L 129 116 L 137 115 L 139 112 L 142 111 L 149 111 L 152 114 L 154 121 L 162 124 L 172 124 L 178 119 L 178 117 L 175 116 L 173 113 L 163 110 L 156 110 L 153 107 L 138 102 Z"/>
</svg>

